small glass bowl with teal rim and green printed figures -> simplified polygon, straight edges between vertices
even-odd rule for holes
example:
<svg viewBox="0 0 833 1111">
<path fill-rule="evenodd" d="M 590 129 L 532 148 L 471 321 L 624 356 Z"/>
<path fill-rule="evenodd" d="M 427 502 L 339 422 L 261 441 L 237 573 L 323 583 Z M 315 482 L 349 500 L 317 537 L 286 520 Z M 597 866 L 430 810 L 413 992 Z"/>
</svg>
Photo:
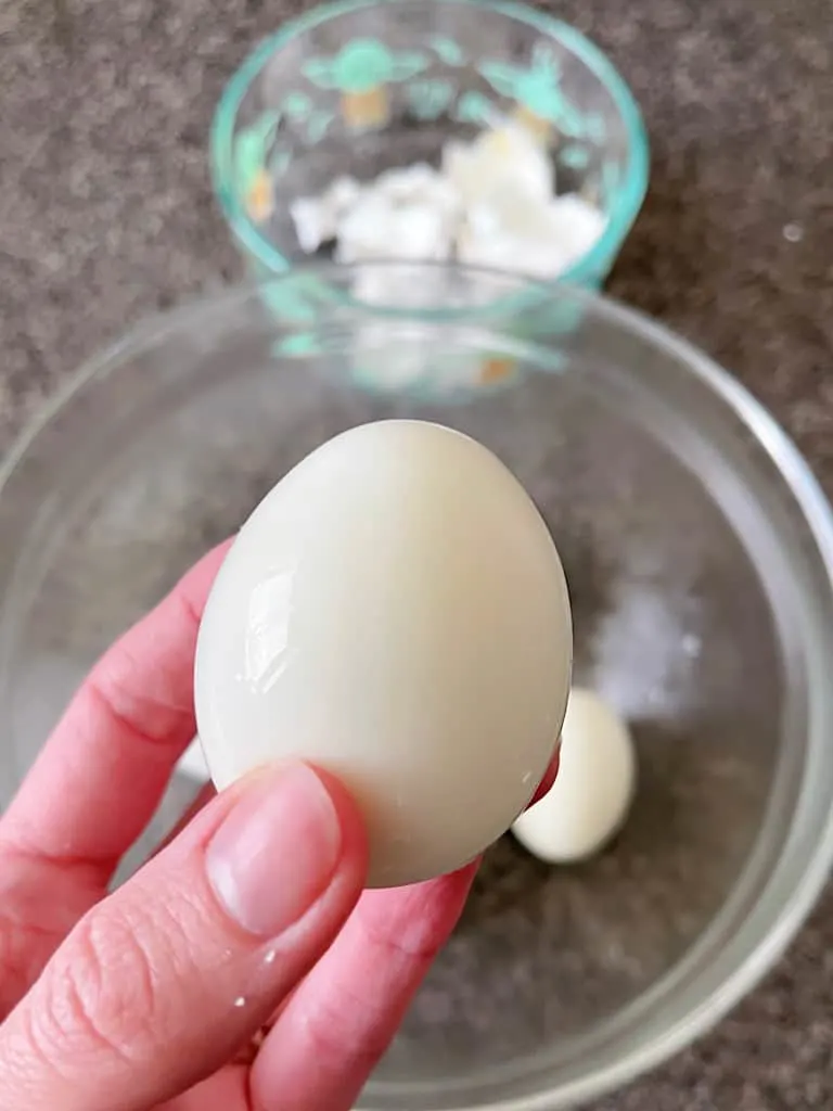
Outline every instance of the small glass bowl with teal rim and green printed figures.
<svg viewBox="0 0 833 1111">
<path fill-rule="evenodd" d="M 436 164 L 452 138 L 520 119 L 546 144 L 559 192 L 606 227 L 561 280 L 599 287 L 648 184 L 639 108 L 608 58 L 573 28 L 499 0 L 345 0 L 264 41 L 229 82 L 211 133 L 213 181 L 255 277 L 307 258 L 299 197 L 348 174 Z"/>
</svg>

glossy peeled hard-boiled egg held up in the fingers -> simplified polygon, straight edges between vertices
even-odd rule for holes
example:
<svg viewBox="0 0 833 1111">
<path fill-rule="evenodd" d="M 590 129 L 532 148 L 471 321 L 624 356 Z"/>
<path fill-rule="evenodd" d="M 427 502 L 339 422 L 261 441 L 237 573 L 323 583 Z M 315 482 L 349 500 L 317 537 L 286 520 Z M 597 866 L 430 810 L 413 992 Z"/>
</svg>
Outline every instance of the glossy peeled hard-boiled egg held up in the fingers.
<svg viewBox="0 0 833 1111">
<path fill-rule="evenodd" d="M 419 421 L 354 428 L 245 522 L 197 645 L 214 783 L 289 757 L 341 779 L 373 887 L 472 860 L 529 802 L 572 657 L 564 573 L 490 451 Z"/>
</svg>

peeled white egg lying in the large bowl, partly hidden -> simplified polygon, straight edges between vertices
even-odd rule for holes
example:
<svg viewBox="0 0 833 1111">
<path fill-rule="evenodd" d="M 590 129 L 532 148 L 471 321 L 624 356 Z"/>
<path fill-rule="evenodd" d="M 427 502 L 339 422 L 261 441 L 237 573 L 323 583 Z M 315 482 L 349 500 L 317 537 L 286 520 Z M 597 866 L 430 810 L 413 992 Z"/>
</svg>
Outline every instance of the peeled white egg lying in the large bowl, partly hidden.
<svg viewBox="0 0 833 1111">
<path fill-rule="evenodd" d="M 619 831 L 628 815 L 636 760 L 625 723 L 592 691 L 570 692 L 561 730 L 559 774 L 512 832 L 549 863 L 583 860 Z"/>
</svg>

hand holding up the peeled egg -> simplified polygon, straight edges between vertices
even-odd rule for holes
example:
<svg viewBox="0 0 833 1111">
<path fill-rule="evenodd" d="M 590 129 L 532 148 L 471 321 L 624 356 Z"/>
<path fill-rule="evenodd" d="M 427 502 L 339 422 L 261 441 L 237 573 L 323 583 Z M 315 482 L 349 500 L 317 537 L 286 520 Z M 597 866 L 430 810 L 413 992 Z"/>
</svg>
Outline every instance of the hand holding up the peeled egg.
<svg viewBox="0 0 833 1111">
<path fill-rule="evenodd" d="M 0 820 L 3 1111 L 348 1111 L 462 909 L 474 864 L 362 893 L 355 807 L 304 764 L 108 894 L 193 735 L 224 549 L 96 665 Z"/>
</svg>

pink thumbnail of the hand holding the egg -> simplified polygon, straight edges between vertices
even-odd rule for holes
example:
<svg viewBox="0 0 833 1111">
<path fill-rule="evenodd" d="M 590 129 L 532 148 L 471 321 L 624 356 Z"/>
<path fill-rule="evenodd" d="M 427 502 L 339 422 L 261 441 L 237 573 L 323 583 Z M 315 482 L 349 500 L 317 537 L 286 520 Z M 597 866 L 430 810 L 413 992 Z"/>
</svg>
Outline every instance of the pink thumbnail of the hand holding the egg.
<svg viewBox="0 0 833 1111">
<path fill-rule="evenodd" d="M 307 764 L 274 769 L 244 791 L 205 851 L 209 882 L 244 930 L 273 938 L 332 879 L 341 828 L 332 799 Z"/>
</svg>

